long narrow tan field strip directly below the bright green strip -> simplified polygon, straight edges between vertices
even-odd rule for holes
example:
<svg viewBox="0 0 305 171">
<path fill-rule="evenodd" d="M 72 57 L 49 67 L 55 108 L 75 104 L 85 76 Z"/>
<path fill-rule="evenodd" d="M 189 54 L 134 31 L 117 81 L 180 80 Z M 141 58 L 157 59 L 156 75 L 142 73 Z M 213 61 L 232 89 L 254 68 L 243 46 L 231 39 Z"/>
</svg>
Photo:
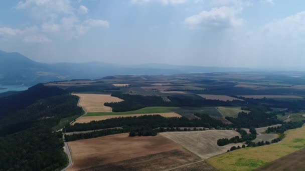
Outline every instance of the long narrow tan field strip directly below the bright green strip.
<svg viewBox="0 0 305 171">
<path fill-rule="evenodd" d="M 82 116 L 79 119 L 77 119 L 73 124 L 75 123 L 88 123 L 92 120 L 106 120 L 109 118 L 115 118 L 115 117 L 131 117 L 131 116 L 142 116 L 142 115 L 155 115 L 159 114 L 163 117 L 182 117 L 180 114 L 175 112 L 168 112 L 168 113 L 143 113 L 143 114 L 119 114 L 119 115 L 104 115 L 104 116 Z"/>
</svg>

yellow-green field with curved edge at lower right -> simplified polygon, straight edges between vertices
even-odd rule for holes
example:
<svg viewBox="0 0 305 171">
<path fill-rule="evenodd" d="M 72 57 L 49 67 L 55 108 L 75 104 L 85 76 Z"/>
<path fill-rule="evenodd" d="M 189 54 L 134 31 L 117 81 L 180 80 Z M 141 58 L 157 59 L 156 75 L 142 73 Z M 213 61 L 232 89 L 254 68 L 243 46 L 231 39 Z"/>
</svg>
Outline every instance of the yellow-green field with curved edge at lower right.
<svg viewBox="0 0 305 171">
<path fill-rule="evenodd" d="M 305 148 L 305 126 L 288 130 L 285 134 L 278 143 L 226 152 L 207 161 L 218 170 L 253 170 Z"/>
</svg>

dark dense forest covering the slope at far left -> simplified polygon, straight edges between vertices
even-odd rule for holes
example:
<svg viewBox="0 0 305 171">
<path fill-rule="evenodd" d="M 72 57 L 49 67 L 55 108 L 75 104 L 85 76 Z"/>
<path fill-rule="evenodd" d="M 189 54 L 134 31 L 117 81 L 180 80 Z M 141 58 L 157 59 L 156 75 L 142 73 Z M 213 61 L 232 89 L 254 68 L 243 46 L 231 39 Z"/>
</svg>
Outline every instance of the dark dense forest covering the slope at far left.
<svg viewBox="0 0 305 171">
<path fill-rule="evenodd" d="M 1 109 L 10 111 L 0 118 L 0 170 L 56 170 L 67 164 L 61 131 L 52 127 L 61 118 L 81 114 L 78 97 L 42 84 L 33 86 L 8 99 L 29 102 L 18 105 L 7 102 Z M 36 92 L 36 93 L 33 93 Z M 32 94 L 31 94 L 32 93 Z M 3 100 L 3 99 L 2 99 Z M 11 101 L 11 100 L 9 100 Z M 30 104 L 30 101 L 35 101 Z M 27 104 L 27 105 L 26 105 Z M 7 108 L 6 108 L 7 107 Z"/>
</svg>

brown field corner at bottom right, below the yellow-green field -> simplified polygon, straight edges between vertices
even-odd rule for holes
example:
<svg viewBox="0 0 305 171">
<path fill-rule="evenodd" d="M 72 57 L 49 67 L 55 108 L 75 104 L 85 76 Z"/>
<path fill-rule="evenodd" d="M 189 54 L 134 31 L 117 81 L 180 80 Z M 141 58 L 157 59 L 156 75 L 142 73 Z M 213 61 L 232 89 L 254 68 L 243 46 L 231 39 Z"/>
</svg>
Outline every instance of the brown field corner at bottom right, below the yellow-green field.
<svg viewBox="0 0 305 171">
<path fill-rule="evenodd" d="M 295 151 L 289 155 L 276 159 L 266 166 L 257 170 L 261 171 L 284 171 L 295 170 L 301 171 L 305 169 L 305 148 Z"/>
</svg>

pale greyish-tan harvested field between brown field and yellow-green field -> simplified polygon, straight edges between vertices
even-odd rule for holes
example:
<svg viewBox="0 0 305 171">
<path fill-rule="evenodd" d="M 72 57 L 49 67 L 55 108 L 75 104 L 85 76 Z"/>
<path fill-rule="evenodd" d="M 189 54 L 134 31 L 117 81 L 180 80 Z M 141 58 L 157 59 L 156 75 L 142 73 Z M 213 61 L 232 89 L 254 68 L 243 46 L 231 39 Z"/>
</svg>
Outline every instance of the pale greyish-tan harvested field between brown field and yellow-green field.
<svg viewBox="0 0 305 171">
<path fill-rule="evenodd" d="M 235 130 L 203 130 L 186 132 L 162 132 L 161 135 L 168 137 L 203 159 L 226 152 L 232 146 L 242 146 L 243 143 L 233 143 L 218 146 L 220 138 L 240 136 Z"/>
</svg>

